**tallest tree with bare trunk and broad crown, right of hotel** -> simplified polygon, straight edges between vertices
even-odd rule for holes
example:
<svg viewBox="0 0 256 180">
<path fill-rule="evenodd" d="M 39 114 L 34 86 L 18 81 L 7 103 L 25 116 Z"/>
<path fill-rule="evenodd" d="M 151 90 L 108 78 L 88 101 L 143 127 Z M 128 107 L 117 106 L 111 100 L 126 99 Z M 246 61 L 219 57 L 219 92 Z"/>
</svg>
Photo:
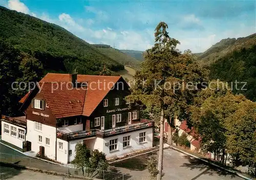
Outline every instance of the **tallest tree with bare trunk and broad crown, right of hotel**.
<svg viewBox="0 0 256 180">
<path fill-rule="evenodd" d="M 187 104 L 201 87 L 196 82 L 206 81 L 207 70 L 196 64 L 188 50 L 181 54 L 179 41 L 170 38 L 168 25 L 160 22 L 155 30 L 155 45 L 147 49 L 140 70 L 134 76 L 132 95 L 127 98 L 144 104 L 147 109 L 159 109 L 156 120 L 160 125 L 160 146 L 157 179 L 162 178 L 164 117 L 185 117 Z M 183 87 L 184 83 L 190 87 Z M 167 111 L 168 110 L 168 111 Z M 160 120 L 159 120 L 160 119 Z"/>
</svg>

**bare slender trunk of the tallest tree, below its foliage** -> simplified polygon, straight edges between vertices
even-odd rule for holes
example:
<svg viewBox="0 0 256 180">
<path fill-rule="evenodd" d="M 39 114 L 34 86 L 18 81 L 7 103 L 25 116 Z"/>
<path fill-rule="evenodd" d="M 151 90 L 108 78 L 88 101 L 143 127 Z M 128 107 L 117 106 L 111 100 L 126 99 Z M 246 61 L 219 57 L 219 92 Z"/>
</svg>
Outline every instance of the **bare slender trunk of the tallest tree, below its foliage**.
<svg viewBox="0 0 256 180">
<path fill-rule="evenodd" d="M 162 169 L 163 169 L 163 128 L 164 128 L 164 110 L 161 107 L 160 116 L 160 143 L 159 143 L 159 156 L 158 156 L 158 171 L 157 180 L 162 179 Z"/>
</svg>

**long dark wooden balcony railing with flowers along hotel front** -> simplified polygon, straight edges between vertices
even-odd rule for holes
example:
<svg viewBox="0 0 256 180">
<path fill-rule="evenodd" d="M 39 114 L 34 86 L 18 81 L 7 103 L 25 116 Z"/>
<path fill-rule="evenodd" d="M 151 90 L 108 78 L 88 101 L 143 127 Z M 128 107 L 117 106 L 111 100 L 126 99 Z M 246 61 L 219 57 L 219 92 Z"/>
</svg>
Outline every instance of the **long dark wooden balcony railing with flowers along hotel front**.
<svg viewBox="0 0 256 180">
<path fill-rule="evenodd" d="M 76 139 L 82 138 L 90 138 L 90 137 L 109 137 L 115 136 L 127 132 L 142 130 L 144 128 L 154 127 L 154 121 L 148 119 L 141 119 L 140 122 L 130 125 L 124 125 L 121 127 L 111 128 L 109 130 L 86 130 L 86 131 L 77 131 L 72 133 L 63 133 L 61 131 L 57 131 L 57 138 L 63 139 L 66 141 L 72 141 Z"/>
</svg>

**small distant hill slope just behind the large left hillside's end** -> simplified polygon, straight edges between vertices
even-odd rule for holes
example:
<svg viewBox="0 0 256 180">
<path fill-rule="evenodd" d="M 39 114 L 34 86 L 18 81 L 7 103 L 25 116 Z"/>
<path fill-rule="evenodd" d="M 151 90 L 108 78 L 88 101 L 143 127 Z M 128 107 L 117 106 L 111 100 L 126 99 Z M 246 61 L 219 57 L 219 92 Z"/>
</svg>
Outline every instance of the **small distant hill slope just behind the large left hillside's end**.
<svg viewBox="0 0 256 180">
<path fill-rule="evenodd" d="M 133 68 L 137 68 L 140 64 L 140 61 L 137 60 L 136 58 L 121 52 L 121 50 L 112 48 L 110 45 L 106 45 L 106 44 L 92 44 L 92 45 L 97 47 L 99 52 L 101 52 L 106 56 L 109 56 L 110 58 L 112 58 L 113 60 L 115 60 L 120 64 L 130 65 Z"/>
</svg>

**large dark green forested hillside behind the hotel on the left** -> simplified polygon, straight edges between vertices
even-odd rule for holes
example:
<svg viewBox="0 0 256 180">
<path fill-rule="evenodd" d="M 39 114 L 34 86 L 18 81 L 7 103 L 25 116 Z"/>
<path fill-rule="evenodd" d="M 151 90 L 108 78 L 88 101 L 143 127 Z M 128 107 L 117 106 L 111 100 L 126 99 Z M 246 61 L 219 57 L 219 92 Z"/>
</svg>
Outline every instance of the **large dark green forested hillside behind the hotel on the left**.
<svg viewBox="0 0 256 180">
<path fill-rule="evenodd" d="M 0 37 L 38 59 L 49 71 L 98 74 L 124 66 L 58 25 L 0 7 Z"/>
</svg>

